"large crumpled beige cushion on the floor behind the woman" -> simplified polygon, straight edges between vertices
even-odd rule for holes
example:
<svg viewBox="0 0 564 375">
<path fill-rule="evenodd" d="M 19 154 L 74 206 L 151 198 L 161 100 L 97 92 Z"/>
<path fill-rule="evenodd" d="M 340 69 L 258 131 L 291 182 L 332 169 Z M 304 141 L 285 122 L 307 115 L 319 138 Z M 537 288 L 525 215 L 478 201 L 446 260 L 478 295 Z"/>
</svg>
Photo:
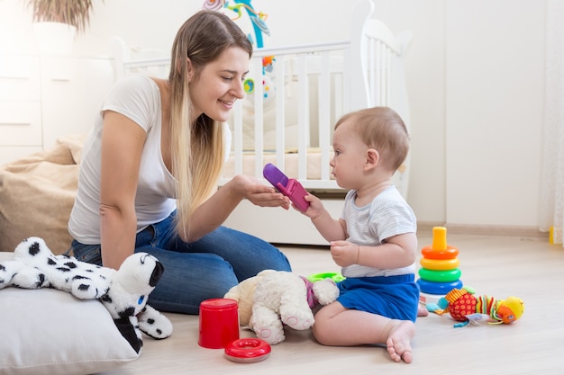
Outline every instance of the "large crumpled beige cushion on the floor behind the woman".
<svg viewBox="0 0 564 375">
<path fill-rule="evenodd" d="M 32 236 L 44 238 L 54 254 L 67 251 L 85 138 L 60 138 L 50 150 L 0 166 L 0 251 L 14 251 Z"/>
</svg>

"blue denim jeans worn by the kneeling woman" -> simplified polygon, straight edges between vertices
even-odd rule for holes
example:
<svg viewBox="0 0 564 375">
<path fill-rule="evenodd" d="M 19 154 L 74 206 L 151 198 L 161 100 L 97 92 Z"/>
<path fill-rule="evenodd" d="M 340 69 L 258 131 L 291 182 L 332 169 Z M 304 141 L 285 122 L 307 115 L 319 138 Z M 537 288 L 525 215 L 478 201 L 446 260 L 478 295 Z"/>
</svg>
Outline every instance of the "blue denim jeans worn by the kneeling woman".
<svg viewBox="0 0 564 375">
<path fill-rule="evenodd" d="M 102 264 L 100 245 L 75 240 L 71 249 L 79 261 Z M 222 298 L 262 270 L 291 271 L 286 255 L 276 247 L 231 228 L 219 227 L 196 242 L 183 242 L 174 228 L 174 213 L 141 230 L 135 252 L 154 255 L 165 267 L 150 293 L 150 306 L 185 314 L 198 314 L 200 302 Z"/>
</svg>

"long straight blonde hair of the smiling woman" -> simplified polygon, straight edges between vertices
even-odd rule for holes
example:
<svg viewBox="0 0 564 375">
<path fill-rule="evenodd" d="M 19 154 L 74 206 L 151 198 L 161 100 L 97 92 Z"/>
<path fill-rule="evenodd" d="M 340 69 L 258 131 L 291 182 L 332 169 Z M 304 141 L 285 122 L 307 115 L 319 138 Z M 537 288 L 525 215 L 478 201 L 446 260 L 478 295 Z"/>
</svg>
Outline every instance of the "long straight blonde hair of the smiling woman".
<svg viewBox="0 0 564 375">
<path fill-rule="evenodd" d="M 206 64 L 230 47 L 252 54 L 241 29 L 223 13 L 200 11 L 180 27 L 172 45 L 170 73 L 170 151 L 177 180 L 177 233 L 187 238 L 190 218 L 216 189 L 223 167 L 223 126 L 205 113 L 191 122 L 193 111 L 187 58 L 197 80 Z"/>
</svg>

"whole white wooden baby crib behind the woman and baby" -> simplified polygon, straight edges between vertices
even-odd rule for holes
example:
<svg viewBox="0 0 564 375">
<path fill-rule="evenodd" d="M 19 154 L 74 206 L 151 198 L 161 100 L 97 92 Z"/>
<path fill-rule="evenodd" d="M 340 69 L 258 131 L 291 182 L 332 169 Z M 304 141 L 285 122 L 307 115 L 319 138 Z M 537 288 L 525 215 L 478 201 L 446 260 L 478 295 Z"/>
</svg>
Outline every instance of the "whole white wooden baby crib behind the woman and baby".
<svg viewBox="0 0 564 375">
<path fill-rule="evenodd" d="M 232 111 L 232 152 L 220 185 L 241 173 L 263 179 L 263 166 L 273 163 L 308 191 L 323 194 L 326 207 L 334 216 L 340 214 L 343 191 L 329 166 L 335 121 L 346 112 L 386 105 L 410 127 L 403 57 L 411 32 L 395 36 L 370 18 L 374 8 L 372 1 L 359 0 L 349 40 L 255 50 L 247 83 L 252 91 Z M 116 78 L 134 72 L 168 76 L 163 54 L 129 49 L 119 38 L 113 39 L 113 53 Z M 394 176 L 405 197 L 408 175 L 409 156 Z M 302 220 L 294 211 L 243 202 L 225 224 L 273 243 L 325 245 Z"/>
</svg>

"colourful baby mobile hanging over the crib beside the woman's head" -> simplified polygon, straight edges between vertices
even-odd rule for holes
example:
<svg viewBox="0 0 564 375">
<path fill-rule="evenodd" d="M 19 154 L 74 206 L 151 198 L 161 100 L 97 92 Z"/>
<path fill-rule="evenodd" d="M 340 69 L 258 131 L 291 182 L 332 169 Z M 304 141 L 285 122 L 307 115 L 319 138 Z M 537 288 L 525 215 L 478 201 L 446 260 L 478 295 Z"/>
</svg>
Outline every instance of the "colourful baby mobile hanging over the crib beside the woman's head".
<svg viewBox="0 0 564 375">
<path fill-rule="evenodd" d="M 270 31 L 268 30 L 268 26 L 265 22 L 268 18 L 268 14 L 255 11 L 252 4 L 250 4 L 250 1 L 251 0 L 205 0 L 203 8 L 222 12 L 230 16 L 233 22 L 238 23 L 239 27 L 241 27 L 241 30 L 243 31 L 248 28 L 248 26 L 241 25 L 241 22 L 244 22 L 245 20 L 244 15 L 247 15 L 252 29 L 252 31 L 247 31 L 247 38 L 249 38 L 253 48 L 261 49 L 264 47 L 265 35 L 270 36 Z M 274 61 L 274 56 L 262 58 L 262 85 L 264 99 L 272 97 L 274 91 L 272 77 L 270 76 L 273 72 Z M 248 76 L 243 83 L 243 87 L 245 93 L 253 94 L 255 89 L 255 80 L 253 77 Z"/>
</svg>

